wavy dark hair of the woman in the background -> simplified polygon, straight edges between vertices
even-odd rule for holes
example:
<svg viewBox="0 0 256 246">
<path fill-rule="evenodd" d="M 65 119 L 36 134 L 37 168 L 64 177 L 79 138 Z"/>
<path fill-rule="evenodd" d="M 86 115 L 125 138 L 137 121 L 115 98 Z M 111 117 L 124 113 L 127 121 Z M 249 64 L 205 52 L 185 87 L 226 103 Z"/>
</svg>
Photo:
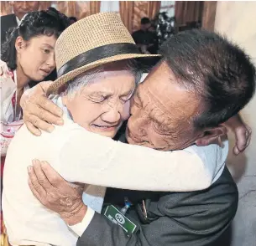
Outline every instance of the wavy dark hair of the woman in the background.
<svg viewBox="0 0 256 246">
<path fill-rule="evenodd" d="M 16 69 L 15 42 L 18 36 L 26 41 L 39 35 L 55 35 L 58 38 L 69 25 L 70 21 L 65 14 L 55 8 L 27 13 L 18 27 L 8 31 L 7 39 L 2 45 L 1 59 L 7 63 L 9 69 Z"/>
</svg>

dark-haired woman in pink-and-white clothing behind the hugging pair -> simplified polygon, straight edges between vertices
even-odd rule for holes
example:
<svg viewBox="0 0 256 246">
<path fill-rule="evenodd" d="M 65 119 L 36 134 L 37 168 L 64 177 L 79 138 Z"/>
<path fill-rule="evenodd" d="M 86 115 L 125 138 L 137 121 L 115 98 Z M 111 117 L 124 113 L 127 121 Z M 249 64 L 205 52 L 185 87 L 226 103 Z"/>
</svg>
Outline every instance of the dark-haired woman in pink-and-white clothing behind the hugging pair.
<svg viewBox="0 0 256 246">
<path fill-rule="evenodd" d="M 2 45 L 1 184 L 9 143 L 18 128 L 24 124 L 20 98 L 29 88 L 29 81 L 42 81 L 55 69 L 55 42 L 68 24 L 68 18 L 54 8 L 31 12 L 26 14 L 17 28 L 9 31 L 8 38 Z M 2 187 L 1 185 L 1 194 Z"/>
</svg>

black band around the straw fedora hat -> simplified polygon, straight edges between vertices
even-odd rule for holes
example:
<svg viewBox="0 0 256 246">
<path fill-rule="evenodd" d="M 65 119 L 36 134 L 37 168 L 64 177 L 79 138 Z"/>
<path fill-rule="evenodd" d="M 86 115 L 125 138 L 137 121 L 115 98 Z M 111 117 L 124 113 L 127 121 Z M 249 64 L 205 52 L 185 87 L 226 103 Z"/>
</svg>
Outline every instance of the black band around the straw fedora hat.
<svg viewBox="0 0 256 246">
<path fill-rule="evenodd" d="M 106 44 L 85 53 L 79 54 L 73 59 L 65 63 L 57 72 L 58 77 L 71 72 L 72 70 L 81 68 L 86 64 L 91 64 L 100 59 L 105 59 L 118 54 L 141 54 L 136 44 Z"/>
</svg>

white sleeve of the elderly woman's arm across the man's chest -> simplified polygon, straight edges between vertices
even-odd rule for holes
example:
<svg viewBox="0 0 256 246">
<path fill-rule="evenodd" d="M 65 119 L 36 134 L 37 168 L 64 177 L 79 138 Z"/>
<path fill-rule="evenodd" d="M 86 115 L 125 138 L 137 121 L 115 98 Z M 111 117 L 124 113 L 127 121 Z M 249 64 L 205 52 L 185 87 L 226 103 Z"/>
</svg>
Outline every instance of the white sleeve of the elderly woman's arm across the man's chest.
<svg viewBox="0 0 256 246">
<path fill-rule="evenodd" d="M 156 151 L 81 130 L 73 132 L 60 151 L 58 172 L 69 182 L 176 192 L 212 184 L 215 168 L 207 168 L 195 151 Z"/>
</svg>

